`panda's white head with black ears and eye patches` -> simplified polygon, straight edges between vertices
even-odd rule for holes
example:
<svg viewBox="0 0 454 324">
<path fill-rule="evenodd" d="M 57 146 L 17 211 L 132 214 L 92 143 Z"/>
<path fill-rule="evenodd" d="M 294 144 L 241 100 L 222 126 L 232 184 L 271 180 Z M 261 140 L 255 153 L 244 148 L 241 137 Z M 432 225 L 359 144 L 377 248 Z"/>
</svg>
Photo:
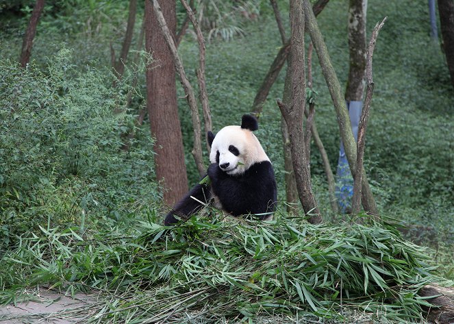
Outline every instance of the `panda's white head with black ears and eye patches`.
<svg viewBox="0 0 454 324">
<path fill-rule="evenodd" d="M 228 175 L 242 175 L 253 164 L 269 161 L 259 140 L 252 134 L 257 129 L 257 119 L 245 114 L 241 126 L 226 126 L 216 135 L 208 132 L 210 162 L 218 164 Z"/>
</svg>

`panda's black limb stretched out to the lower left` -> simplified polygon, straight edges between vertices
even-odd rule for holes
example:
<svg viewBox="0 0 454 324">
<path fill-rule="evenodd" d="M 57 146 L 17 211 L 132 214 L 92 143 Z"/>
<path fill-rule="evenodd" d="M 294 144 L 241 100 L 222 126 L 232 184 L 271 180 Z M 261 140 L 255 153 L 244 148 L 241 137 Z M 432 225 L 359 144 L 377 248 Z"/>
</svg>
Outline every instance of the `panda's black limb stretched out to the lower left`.
<svg viewBox="0 0 454 324">
<path fill-rule="evenodd" d="M 210 187 L 205 184 L 196 184 L 192 187 L 192 189 L 173 207 L 171 212 L 166 215 L 164 225 L 173 225 L 178 223 L 179 219 L 186 221 L 186 219 L 188 219 L 192 214 L 201 210 L 203 204 L 199 203 L 199 201 L 195 199 L 192 199 L 191 196 L 203 203 L 206 203 L 211 197 Z"/>
</svg>

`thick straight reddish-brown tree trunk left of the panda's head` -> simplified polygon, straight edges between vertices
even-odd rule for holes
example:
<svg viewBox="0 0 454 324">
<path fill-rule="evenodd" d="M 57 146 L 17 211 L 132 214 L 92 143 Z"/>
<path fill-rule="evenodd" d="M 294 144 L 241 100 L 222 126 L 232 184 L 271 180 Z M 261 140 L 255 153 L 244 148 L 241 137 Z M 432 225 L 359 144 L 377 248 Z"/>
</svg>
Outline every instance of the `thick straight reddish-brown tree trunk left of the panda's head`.
<svg viewBox="0 0 454 324">
<path fill-rule="evenodd" d="M 162 1 L 162 14 L 175 35 L 175 1 Z M 155 138 L 155 170 L 164 184 L 164 203 L 173 205 L 188 192 L 181 126 L 177 109 L 175 65 L 166 40 L 153 14 L 150 1 L 145 1 L 145 46 L 160 66 L 147 68 L 147 108 L 151 134 Z M 151 67 L 151 66 L 150 66 Z"/>
</svg>

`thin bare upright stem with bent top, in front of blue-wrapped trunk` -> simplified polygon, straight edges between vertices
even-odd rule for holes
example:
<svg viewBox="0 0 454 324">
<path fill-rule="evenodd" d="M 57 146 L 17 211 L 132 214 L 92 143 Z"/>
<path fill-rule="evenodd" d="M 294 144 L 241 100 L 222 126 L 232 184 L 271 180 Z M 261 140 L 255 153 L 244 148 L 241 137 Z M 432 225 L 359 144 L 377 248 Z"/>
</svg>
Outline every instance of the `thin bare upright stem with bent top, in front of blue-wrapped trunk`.
<svg viewBox="0 0 454 324">
<path fill-rule="evenodd" d="M 375 43 L 377 42 L 377 37 L 380 32 L 381 27 L 385 24 L 386 18 L 383 18 L 381 23 L 377 23 L 370 36 L 369 47 L 366 57 L 366 79 L 367 79 L 367 90 L 366 90 L 366 99 L 364 100 L 364 107 L 361 112 L 360 125 L 358 126 L 358 140 L 357 140 L 357 153 L 356 153 L 356 169 L 355 175 L 353 177 L 353 199 L 351 202 L 351 208 L 353 214 L 360 212 L 361 208 L 361 182 L 362 182 L 362 162 L 364 157 L 364 146 L 365 146 L 365 136 L 366 136 L 366 127 L 370 111 L 370 103 L 372 102 L 372 95 L 374 92 L 374 82 L 372 77 L 372 58 L 375 49 Z"/>
</svg>

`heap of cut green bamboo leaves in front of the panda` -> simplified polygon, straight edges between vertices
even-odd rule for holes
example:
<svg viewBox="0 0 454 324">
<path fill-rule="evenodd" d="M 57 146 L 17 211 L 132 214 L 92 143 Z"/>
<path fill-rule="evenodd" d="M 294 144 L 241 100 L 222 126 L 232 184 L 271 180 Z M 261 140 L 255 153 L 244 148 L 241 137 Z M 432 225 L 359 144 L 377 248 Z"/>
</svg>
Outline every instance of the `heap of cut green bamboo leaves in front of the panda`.
<svg viewBox="0 0 454 324">
<path fill-rule="evenodd" d="M 439 280 L 427 260 L 389 224 L 197 216 L 172 228 L 143 222 L 129 238 L 40 227 L 3 257 L 0 284 L 115 290 L 121 297 L 93 317 L 103 321 L 129 323 L 131 312 L 134 323 L 181 321 L 185 312 L 212 323 L 279 314 L 342 320 L 341 306 L 419 321 L 429 304 L 418 289 Z"/>
</svg>

